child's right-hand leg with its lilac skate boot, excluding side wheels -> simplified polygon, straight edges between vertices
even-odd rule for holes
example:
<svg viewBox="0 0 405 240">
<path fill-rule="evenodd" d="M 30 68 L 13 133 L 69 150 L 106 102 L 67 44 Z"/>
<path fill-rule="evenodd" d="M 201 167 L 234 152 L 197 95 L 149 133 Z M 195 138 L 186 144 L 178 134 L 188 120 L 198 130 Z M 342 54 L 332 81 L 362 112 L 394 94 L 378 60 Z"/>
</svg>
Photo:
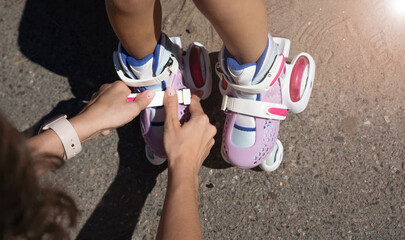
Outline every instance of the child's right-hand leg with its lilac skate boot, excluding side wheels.
<svg viewBox="0 0 405 240">
<path fill-rule="evenodd" d="M 229 110 L 221 154 L 240 168 L 256 167 L 267 159 L 278 136 L 280 118 L 268 119 L 267 112 L 281 105 L 280 82 L 275 77 L 282 69 L 273 68 L 276 74 L 268 74 L 278 49 L 268 34 L 266 6 L 263 0 L 194 2 L 225 45 L 216 65 L 219 88 L 226 96 L 222 108 Z M 272 76 L 275 80 L 270 80 Z"/>
</svg>

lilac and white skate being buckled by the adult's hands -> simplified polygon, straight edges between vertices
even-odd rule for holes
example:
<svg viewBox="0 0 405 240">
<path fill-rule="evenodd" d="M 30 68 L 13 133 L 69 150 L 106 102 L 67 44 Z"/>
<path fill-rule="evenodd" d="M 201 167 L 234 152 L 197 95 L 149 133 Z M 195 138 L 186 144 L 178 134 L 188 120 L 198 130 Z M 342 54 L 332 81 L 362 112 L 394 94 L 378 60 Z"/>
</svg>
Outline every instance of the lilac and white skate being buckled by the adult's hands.
<svg viewBox="0 0 405 240">
<path fill-rule="evenodd" d="M 134 94 L 128 97 L 129 101 L 146 89 L 156 92 L 152 102 L 141 113 L 140 122 L 146 157 L 152 164 L 160 165 L 166 160 L 163 147 L 164 90 L 167 86 L 177 90 L 178 117 L 181 122 L 186 122 L 189 119 L 187 105 L 190 104 L 191 92 L 202 91 L 202 99 L 211 93 L 211 66 L 207 51 L 200 43 L 192 43 L 183 58 L 181 39 L 169 39 L 162 33 L 154 52 L 144 59 L 129 56 L 119 43 L 113 60 L 118 76 L 133 87 Z"/>
</svg>

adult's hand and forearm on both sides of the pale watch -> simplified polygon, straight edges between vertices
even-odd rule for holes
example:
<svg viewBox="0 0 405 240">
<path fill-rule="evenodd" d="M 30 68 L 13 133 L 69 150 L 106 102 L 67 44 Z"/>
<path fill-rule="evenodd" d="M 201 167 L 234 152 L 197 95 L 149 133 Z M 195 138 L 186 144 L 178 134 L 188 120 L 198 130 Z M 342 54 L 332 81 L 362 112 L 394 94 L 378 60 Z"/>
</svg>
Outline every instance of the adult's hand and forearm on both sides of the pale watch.
<svg viewBox="0 0 405 240">
<path fill-rule="evenodd" d="M 151 90 L 141 93 L 134 102 L 127 102 L 131 93 L 129 88 L 121 81 L 104 84 L 100 90 L 93 94 L 87 106 L 77 116 L 69 119 L 80 142 L 95 138 L 100 134 L 107 135 L 110 129 L 120 127 L 145 109 L 153 99 L 155 93 Z M 45 131 L 28 140 L 31 155 L 54 156 L 62 158 L 64 148 L 59 136 L 51 130 Z M 54 161 L 54 158 L 48 159 Z M 37 165 L 36 174 L 39 176 L 53 168 L 54 164 Z"/>
</svg>

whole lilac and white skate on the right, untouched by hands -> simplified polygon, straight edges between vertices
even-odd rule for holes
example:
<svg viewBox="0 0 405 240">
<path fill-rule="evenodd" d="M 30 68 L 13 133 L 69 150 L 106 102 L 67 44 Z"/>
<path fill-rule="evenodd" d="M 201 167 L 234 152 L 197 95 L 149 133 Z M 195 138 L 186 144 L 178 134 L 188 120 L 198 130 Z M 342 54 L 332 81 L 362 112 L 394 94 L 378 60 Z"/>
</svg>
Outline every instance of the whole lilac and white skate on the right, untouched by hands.
<svg viewBox="0 0 405 240">
<path fill-rule="evenodd" d="M 239 168 L 259 166 L 276 170 L 283 158 L 277 139 L 287 109 L 302 112 L 308 105 L 315 77 L 315 62 L 300 53 L 286 62 L 290 40 L 268 37 L 256 63 L 240 65 L 223 47 L 215 70 L 226 113 L 221 154 Z"/>
</svg>

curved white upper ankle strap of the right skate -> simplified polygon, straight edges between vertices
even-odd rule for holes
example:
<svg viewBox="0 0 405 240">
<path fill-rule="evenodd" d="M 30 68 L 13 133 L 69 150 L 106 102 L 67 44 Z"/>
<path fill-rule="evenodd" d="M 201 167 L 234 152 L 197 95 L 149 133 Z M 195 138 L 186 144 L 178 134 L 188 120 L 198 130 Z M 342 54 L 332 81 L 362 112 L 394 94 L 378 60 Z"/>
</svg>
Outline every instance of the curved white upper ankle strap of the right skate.
<svg viewBox="0 0 405 240">
<path fill-rule="evenodd" d="M 228 77 L 222 72 L 219 65 L 216 67 L 216 72 L 220 79 L 225 79 L 225 81 L 235 90 L 245 92 L 245 93 L 265 93 L 280 77 L 285 66 L 285 57 L 283 54 L 279 54 L 276 57 L 273 65 L 271 66 L 269 72 L 266 74 L 264 79 L 256 85 L 243 86 L 233 83 Z"/>
</svg>

